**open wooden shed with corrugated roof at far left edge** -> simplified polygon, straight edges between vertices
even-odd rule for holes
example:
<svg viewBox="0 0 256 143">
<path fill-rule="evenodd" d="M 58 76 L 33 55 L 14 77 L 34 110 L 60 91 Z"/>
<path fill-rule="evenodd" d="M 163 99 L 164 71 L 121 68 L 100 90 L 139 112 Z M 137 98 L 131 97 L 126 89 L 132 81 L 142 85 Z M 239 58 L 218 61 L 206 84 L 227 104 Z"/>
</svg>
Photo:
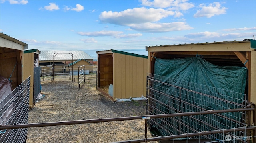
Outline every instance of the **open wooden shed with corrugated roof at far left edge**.
<svg viewBox="0 0 256 143">
<path fill-rule="evenodd" d="M 28 44 L 0 33 L 0 75 L 11 81 L 15 89 L 23 80 L 23 51 Z"/>
</svg>

